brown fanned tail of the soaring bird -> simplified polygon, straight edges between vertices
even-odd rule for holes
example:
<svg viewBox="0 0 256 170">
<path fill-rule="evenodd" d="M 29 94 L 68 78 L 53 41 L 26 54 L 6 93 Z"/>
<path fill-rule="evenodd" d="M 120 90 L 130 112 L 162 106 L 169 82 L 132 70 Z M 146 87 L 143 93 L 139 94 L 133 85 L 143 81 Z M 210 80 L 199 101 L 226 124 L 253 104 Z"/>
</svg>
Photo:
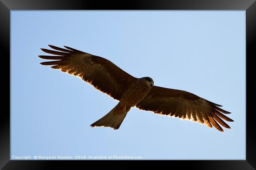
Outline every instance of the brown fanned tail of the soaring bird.
<svg viewBox="0 0 256 170">
<path fill-rule="evenodd" d="M 119 104 L 117 104 L 117 106 L 115 106 L 108 114 L 91 124 L 91 127 L 104 126 L 113 129 L 119 129 L 126 114 L 127 112 L 122 111 L 122 109 L 119 107 Z"/>
</svg>

